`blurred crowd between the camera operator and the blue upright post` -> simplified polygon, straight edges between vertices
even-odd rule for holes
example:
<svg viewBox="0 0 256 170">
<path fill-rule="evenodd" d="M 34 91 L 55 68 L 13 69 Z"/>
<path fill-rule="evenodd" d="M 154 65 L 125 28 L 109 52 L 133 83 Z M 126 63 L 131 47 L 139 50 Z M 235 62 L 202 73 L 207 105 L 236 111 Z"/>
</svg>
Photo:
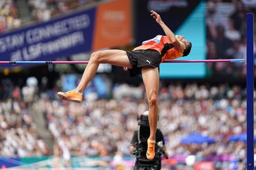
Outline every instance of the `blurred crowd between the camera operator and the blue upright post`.
<svg viewBox="0 0 256 170">
<path fill-rule="evenodd" d="M 172 89 L 172 90 L 170 90 Z M 162 89 L 163 90 L 163 89 Z M 208 156 L 229 155 L 243 166 L 246 145 L 229 142 L 230 135 L 246 131 L 245 91 L 239 86 L 226 85 L 206 87 L 196 84 L 169 86 L 161 91 L 160 128 L 167 140 L 170 155 L 194 155 L 199 160 Z M 168 93 L 168 95 L 166 95 Z M 163 96 L 164 95 L 164 96 Z M 166 98 L 167 97 L 167 98 Z M 168 99 L 174 100 L 168 100 Z M 199 132 L 216 140 L 214 144 L 181 144 L 182 138 Z M 209 159 L 212 161 L 212 159 Z M 217 169 L 228 169 L 229 163 L 215 159 Z M 219 164 L 218 164 L 219 163 Z"/>
</svg>

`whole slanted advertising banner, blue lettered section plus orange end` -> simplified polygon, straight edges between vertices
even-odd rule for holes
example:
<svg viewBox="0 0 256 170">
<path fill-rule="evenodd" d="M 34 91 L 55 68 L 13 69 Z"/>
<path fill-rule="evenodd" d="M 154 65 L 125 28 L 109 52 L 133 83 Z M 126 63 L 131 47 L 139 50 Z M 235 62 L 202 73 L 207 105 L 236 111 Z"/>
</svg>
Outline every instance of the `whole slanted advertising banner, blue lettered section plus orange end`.
<svg viewBox="0 0 256 170">
<path fill-rule="evenodd" d="M 119 0 L 2 34 L 0 60 L 52 61 L 128 44 L 132 36 L 130 10 L 131 0 Z"/>
</svg>

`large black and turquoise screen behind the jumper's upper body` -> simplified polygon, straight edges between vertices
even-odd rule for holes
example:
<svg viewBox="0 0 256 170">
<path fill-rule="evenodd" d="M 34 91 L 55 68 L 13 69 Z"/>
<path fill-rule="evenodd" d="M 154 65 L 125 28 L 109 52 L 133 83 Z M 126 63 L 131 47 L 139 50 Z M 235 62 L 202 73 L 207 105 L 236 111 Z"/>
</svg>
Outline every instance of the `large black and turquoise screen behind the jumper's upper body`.
<svg viewBox="0 0 256 170">
<path fill-rule="evenodd" d="M 150 10 L 158 12 L 165 24 L 176 34 L 192 42 L 191 52 L 178 60 L 199 60 L 206 58 L 206 26 L 204 1 L 136 1 L 137 14 L 135 30 L 136 45 L 142 41 L 164 35 L 161 27 L 150 16 Z M 205 63 L 163 63 L 160 78 L 204 78 Z"/>
</svg>

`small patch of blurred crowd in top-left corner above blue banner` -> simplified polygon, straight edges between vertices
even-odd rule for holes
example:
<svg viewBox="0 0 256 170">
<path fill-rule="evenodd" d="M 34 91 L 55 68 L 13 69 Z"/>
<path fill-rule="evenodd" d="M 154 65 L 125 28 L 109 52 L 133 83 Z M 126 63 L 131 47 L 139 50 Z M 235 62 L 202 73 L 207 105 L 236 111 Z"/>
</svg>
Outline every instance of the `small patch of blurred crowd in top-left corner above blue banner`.
<svg viewBox="0 0 256 170">
<path fill-rule="evenodd" d="M 18 9 L 13 0 L 0 1 L 0 33 L 17 28 L 22 24 L 19 19 Z"/>
</svg>

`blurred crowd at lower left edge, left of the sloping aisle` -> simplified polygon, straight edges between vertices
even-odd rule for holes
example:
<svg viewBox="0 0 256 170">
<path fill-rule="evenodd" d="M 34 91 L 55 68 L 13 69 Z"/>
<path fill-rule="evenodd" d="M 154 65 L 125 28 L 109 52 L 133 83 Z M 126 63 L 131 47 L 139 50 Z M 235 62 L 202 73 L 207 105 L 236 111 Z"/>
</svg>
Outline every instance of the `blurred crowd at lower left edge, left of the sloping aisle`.
<svg viewBox="0 0 256 170">
<path fill-rule="evenodd" d="M 0 155 L 32 157 L 49 155 L 32 122 L 28 105 L 21 99 L 0 102 Z"/>
</svg>

